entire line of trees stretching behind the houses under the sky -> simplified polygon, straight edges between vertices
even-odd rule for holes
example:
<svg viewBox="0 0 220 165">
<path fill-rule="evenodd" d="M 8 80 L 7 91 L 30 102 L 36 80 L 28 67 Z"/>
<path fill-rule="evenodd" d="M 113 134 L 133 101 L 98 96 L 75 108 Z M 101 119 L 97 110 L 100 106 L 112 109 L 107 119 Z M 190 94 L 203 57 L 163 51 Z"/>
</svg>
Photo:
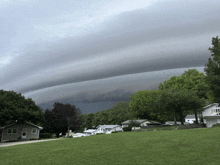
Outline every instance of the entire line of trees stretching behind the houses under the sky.
<svg viewBox="0 0 220 165">
<path fill-rule="evenodd" d="M 204 73 L 189 69 L 160 83 L 158 90 L 142 90 L 130 95 L 126 102 L 96 113 L 82 114 L 75 105 L 56 102 L 43 110 L 20 93 L 0 90 L 0 126 L 13 122 L 32 122 L 44 127 L 44 132 L 66 133 L 83 131 L 103 124 L 121 124 L 128 119 L 148 119 L 165 122 L 181 121 L 189 113 L 197 116 L 206 102 L 220 102 L 220 39 L 212 38 L 211 57 Z M 196 117 L 196 122 L 198 119 Z"/>
</svg>

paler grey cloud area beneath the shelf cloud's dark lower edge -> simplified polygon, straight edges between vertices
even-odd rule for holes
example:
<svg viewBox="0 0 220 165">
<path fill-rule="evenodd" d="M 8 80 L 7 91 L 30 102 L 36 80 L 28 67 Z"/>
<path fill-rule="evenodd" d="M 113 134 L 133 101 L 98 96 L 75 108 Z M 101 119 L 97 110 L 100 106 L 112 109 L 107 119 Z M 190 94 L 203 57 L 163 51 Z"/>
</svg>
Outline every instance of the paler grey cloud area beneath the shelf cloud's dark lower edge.
<svg viewBox="0 0 220 165">
<path fill-rule="evenodd" d="M 203 67 L 195 68 L 200 72 Z M 53 100 L 70 100 L 71 102 L 97 102 L 128 99 L 131 93 L 144 89 L 157 89 L 160 82 L 173 75 L 180 75 L 188 68 L 145 72 L 71 83 L 24 93 L 33 98 L 37 104 Z"/>
</svg>

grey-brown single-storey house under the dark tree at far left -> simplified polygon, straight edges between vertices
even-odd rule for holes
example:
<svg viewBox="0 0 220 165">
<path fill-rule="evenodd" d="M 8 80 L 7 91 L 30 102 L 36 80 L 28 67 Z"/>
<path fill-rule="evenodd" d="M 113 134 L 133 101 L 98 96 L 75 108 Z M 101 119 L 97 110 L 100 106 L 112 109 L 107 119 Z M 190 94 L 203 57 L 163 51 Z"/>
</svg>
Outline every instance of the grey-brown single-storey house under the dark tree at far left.
<svg viewBox="0 0 220 165">
<path fill-rule="evenodd" d="M 43 127 L 34 125 L 32 123 L 24 124 L 10 124 L 4 127 L 0 127 L 1 142 L 13 141 L 13 140 L 30 140 L 38 139 L 40 130 Z"/>
</svg>

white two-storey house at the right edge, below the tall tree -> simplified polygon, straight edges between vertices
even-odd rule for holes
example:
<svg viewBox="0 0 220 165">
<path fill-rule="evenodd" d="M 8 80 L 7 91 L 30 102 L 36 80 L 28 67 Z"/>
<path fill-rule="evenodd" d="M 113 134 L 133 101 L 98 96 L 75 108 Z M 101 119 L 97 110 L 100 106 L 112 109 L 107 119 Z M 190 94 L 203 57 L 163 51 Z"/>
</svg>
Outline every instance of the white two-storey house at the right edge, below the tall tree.
<svg viewBox="0 0 220 165">
<path fill-rule="evenodd" d="M 220 123 L 220 107 L 218 103 L 209 104 L 202 111 L 203 121 L 207 127 Z"/>
</svg>

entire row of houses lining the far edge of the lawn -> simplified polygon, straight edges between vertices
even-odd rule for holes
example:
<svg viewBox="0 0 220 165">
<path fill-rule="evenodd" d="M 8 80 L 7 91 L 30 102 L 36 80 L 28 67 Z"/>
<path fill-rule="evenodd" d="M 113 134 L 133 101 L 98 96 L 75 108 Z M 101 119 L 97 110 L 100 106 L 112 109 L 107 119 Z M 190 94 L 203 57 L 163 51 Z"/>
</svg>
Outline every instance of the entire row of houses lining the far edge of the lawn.
<svg viewBox="0 0 220 165">
<path fill-rule="evenodd" d="M 210 128 L 215 124 L 220 124 L 220 107 L 218 103 L 209 104 L 203 107 L 202 114 L 197 114 L 198 124 L 195 128 L 207 127 Z M 201 121 L 202 120 L 202 121 Z M 194 125 L 196 123 L 195 114 L 189 114 L 185 117 L 184 125 Z M 147 130 L 147 128 L 161 128 L 175 125 L 174 121 L 166 121 L 164 124 L 147 119 L 126 120 L 121 125 L 99 125 L 94 129 L 84 128 L 83 132 L 72 132 L 69 130 L 66 134 L 60 133 L 63 138 L 76 138 L 92 136 L 97 134 L 120 133 L 124 131 Z M 176 121 L 176 125 L 181 125 L 181 122 Z M 126 128 L 130 127 L 130 130 Z M 17 140 L 34 140 L 39 139 L 40 131 L 43 127 L 32 123 L 14 123 L 4 127 L 0 127 L 1 142 L 17 141 Z"/>
</svg>

